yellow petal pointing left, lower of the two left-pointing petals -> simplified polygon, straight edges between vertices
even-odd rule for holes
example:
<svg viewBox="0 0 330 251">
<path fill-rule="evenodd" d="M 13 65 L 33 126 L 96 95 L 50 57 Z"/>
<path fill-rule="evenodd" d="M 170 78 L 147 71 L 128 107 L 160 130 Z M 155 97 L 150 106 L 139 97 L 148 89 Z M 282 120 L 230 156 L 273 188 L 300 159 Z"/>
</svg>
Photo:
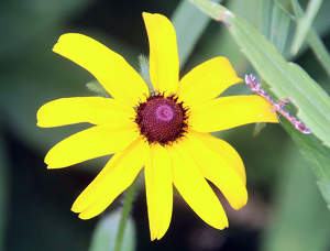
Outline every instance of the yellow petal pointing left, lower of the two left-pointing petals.
<svg viewBox="0 0 330 251">
<path fill-rule="evenodd" d="M 133 122 L 127 128 L 96 126 L 57 143 L 47 153 L 45 163 L 48 168 L 61 168 L 117 153 L 128 148 L 139 134 Z"/>
</svg>

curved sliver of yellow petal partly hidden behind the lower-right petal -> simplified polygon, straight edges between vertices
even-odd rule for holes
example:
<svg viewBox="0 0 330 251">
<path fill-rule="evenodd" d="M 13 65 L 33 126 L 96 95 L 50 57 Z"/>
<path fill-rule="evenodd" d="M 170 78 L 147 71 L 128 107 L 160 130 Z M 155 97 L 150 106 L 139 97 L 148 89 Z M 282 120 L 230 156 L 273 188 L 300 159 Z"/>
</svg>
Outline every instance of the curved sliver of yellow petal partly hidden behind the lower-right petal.
<svg viewBox="0 0 330 251">
<path fill-rule="evenodd" d="M 234 171 L 239 174 L 244 185 L 246 184 L 246 175 L 243 161 L 239 153 L 226 141 L 212 137 L 209 133 L 196 132 L 189 130 L 188 135 L 197 138 L 209 151 L 220 155 Z"/>
</svg>

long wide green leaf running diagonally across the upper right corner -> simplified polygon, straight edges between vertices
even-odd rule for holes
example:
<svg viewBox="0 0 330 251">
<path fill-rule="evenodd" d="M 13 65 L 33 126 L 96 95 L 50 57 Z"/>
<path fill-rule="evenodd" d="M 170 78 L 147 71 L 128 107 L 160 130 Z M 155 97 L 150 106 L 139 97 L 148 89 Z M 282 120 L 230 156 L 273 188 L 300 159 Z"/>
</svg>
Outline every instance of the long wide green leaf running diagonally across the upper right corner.
<svg viewBox="0 0 330 251">
<path fill-rule="evenodd" d="M 224 7 L 190 0 L 211 18 L 222 21 L 262 78 L 280 100 L 289 98 L 298 117 L 323 144 L 330 146 L 330 98 L 309 75 L 288 63 L 255 28 Z"/>
</svg>

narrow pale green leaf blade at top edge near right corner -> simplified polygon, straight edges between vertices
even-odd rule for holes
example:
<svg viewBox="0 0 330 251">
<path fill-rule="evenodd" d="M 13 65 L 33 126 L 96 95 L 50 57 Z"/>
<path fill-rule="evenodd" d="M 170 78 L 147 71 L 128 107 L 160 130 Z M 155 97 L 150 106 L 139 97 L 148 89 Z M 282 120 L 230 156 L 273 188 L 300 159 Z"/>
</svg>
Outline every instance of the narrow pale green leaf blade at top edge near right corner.
<svg viewBox="0 0 330 251">
<path fill-rule="evenodd" d="M 322 4 L 322 0 L 309 0 L 306 15 L 298 20 L 298 25 L 297 25 L 293 47 L 292 47 L 293 54 L 296 54 L 300 48 L 321 4 Z"/>
</svg>

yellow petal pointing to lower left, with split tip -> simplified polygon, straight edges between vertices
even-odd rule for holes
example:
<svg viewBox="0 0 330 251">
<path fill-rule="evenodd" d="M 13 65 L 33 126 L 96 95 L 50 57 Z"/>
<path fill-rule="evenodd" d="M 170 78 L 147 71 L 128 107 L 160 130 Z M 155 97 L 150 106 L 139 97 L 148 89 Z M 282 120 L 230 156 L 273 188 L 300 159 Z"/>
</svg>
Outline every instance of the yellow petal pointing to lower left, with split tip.
<svg viewBox="0 0 330 251">
<path fill-rule="evenodd" d="M 140 137 L 112 156 L 99 175 L 79 195 L 72 210 L 89 219 L 102 212 L 135 179 L 145 164 L 148 144 Z"/>
</svg>

